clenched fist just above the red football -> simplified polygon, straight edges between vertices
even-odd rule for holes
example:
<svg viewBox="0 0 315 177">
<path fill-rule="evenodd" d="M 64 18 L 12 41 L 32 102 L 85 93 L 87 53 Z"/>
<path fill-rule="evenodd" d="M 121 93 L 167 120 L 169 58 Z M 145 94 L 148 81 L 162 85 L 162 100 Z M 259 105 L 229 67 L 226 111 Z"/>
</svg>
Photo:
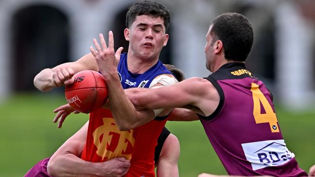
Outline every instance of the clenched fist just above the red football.
<svg viewBox="0 0 315 177">
<path fill-rule="evenodd" d="M 52 75 L 52 83 L 54 87 L 73 84 L 74 78 L 72 76 L 74 74 L 73 69 L 70 67 L 61 67 L 56 69 Z"/>
</svg>

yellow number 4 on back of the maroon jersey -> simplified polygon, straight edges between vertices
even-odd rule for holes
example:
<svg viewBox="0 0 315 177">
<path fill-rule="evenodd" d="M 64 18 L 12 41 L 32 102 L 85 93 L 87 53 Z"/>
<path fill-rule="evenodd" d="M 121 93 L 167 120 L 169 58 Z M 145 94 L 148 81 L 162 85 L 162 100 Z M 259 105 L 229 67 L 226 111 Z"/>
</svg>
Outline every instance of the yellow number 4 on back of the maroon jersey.
<svg viewBox="0 0 315 177">
<path fill-rule="evenodd" d="M 276 113 L 273 112 L 270 103 L 268 102 L 265 95 L 260 91 L 257 84 L 252 83 L 252 99 L 254 101 L 253 116 L 256 123 L 269 123 L 270 130 L 272 133 L 279 132 L 278 120 Z M 265 109 L 265 114 L 261 113 L 260 103 Z"/>
</svg>

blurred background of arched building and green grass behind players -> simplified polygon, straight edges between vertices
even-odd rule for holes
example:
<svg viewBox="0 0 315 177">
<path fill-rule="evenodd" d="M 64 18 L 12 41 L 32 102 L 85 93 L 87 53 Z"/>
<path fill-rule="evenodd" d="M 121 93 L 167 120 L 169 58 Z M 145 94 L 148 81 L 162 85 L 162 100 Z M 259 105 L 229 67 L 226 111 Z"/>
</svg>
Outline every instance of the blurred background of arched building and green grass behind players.
<svg viewBox="0 0 315 177">
<path fill-rule="evenodd" d="M 205 34 L 225 12 L 245 15 L 254 28 L 247 68 L 273 92 L 287 147 L 304 170 L 315 163 L 315 0 L 158 0 L 171 12 L 170 40 L 160 59 L 186 78 L 207 76 Z M 64 88 L 41 93 L 33 78 L 44 68 L 89 53 L 98 33 L 124 38 L 135 0 L 0 0 L 0 176 L 23 176 L 88 120 L 70 116 L 62 129 L 52 110 Z M 107 38 L 107 37 L 106 37 Z M 181 177 L 226 174 L 199 121 L 168 122 L 181 143 Z"/>
</svg>

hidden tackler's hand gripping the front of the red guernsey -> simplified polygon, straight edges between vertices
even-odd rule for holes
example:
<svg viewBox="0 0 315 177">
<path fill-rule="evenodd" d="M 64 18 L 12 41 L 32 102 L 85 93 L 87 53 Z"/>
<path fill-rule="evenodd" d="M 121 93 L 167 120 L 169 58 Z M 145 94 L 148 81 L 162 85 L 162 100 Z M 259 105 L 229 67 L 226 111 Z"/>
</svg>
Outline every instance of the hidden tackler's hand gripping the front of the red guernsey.
<svg viewBox="0 0 315 177">
<path fill-rule="evenodd" d="M 99 164 L 99 169 L 103 172 L 102 177 L 123 177 L 130 167 L 130 161 L 125 157 L 117 157 Z"/>
</svg>

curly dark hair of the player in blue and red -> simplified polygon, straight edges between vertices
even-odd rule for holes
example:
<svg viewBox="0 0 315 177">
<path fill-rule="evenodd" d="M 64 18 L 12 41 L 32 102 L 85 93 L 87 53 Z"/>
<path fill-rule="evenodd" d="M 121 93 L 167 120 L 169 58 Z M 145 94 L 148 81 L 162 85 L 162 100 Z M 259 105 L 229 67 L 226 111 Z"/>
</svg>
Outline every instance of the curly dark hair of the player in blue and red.
<svg viewBox="0 0 315 177">
<path fill-rule="evenodd" d="M 170 12 L 160 3 L 144 0 L 133 4 L 126 14 L 126 27 L 129 28 L 139 15 L 152 15 L 154 17 L 162 17 L 167 31 L 171 15 Z"/>
</svg>

